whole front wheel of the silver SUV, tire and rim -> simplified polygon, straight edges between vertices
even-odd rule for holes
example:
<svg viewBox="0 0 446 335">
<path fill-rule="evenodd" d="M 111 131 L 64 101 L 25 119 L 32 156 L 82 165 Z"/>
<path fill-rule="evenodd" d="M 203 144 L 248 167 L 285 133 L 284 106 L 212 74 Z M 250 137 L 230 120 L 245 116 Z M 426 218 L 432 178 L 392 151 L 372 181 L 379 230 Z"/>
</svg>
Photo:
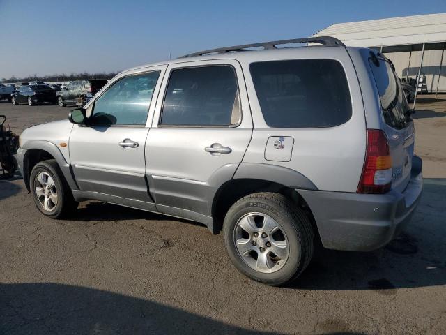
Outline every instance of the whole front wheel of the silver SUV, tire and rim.
<svg viewBox="0 0 446 335">
<path fill-rule="evenodd" d="M 77 207 L 70 186 L 54 159 L 37 163 L 29 180 L 34 202 L 46 216 L 61 218 Z"/>
</svg>

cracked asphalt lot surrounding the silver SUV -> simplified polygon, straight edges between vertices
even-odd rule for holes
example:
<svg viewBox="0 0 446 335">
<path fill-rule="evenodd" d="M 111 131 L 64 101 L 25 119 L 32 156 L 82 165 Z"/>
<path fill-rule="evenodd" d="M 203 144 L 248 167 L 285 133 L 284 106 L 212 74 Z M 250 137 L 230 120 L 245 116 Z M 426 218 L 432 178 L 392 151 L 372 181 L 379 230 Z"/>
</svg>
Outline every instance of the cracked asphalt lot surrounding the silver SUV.
<svg viewBox="0 0 446 335">
<path fill-rule="evenodd" d="M 0 334 L 446 334 L 446 95 L 420 98 L 424 195 L 371 253 L 322 251 L 286 288 L 233 268 L 222 235 L 100 202 L 68 221 L 0 181 Z M 14 131 L 69 108 L 0 102 Z"/>
</svg>

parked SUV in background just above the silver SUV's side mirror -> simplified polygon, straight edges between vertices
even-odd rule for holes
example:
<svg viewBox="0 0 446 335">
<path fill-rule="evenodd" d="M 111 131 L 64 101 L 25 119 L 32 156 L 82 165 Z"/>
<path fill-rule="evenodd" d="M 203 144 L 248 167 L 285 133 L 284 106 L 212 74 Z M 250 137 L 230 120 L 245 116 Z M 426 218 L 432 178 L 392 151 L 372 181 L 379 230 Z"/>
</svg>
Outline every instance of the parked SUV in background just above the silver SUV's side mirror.
<svg viewBox="0 0 446 335">
<path fill-rule="evenodd" d="M 57 92 L 59 107 L 67 105 L 85 105 L 98 92 L 107 80 L 75 80 Z"/>
</svg>

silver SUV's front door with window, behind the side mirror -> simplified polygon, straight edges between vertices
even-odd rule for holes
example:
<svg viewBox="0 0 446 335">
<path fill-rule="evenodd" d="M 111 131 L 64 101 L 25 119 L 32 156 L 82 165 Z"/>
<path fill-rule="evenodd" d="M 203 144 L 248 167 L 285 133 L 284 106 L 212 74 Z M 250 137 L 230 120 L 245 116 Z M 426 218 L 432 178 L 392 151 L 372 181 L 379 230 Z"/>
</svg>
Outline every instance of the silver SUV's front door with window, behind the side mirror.
<svg viewBox="0 0 446 335">
<path fill-rule="evenodd" d="M 153 202 L 146 186 L 144 147 L 162 70 L 118 78 L 86 105 L 91 110 L 88 123 L 73 127 L 69 144 L 82 191 Z"/>
</svg>

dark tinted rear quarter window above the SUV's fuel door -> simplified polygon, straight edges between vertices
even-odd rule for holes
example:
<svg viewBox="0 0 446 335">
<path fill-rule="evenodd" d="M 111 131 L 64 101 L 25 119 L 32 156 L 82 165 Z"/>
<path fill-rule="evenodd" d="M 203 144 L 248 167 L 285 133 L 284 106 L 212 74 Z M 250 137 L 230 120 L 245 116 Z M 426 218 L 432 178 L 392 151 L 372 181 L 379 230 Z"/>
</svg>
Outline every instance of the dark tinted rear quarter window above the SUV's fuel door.
<svg viewBox="0 0 446 335">
<path fill-rule="evenodd" d="M 263 61 L 250 64 L 249 70 L 270 127 L 325 128 L 351 118 L 350 91 L 339 61 Z"/>
</svg>

